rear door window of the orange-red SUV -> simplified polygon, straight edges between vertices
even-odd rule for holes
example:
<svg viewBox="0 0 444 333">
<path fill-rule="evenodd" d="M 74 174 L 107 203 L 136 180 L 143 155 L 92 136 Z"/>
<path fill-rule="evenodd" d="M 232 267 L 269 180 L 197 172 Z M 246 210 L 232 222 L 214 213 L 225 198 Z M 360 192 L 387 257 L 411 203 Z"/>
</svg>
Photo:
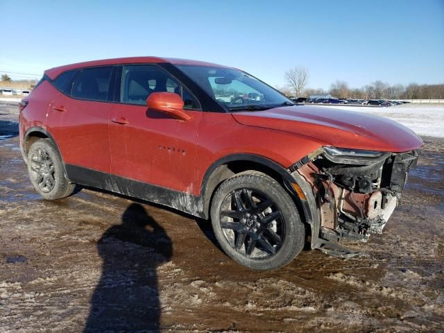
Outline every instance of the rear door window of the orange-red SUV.
<svg viewBox="0 0 444 333">
<path fill-rule="evenodd" d="M 82 69 L 72 87 L 71 96 L 89 101 L 108 101 L 112 67 Z"/>
</svg>

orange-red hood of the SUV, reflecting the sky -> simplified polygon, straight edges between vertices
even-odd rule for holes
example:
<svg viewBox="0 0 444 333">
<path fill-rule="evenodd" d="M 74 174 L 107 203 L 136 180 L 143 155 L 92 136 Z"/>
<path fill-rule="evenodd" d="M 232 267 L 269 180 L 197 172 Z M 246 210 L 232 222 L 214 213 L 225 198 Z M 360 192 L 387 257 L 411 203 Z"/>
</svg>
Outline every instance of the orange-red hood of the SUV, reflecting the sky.
<svg viewBox="0 0 444 333">
<path fill-rule="evenodd" d="M 409 128 L 384 117 L 309 105 L 265 111 L 233 112 L 241 124 L 282 130 L 327 142 L 340 148 L 370 151 L 411 151 L 422 140 Z"/>
</svg>

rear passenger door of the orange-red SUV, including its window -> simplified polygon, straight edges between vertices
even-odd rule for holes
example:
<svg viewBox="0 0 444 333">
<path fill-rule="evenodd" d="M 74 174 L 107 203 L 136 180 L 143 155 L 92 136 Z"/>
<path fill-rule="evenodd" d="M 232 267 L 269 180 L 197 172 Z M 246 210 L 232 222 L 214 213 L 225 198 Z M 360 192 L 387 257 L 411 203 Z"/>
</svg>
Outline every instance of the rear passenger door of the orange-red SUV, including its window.
<svg viewBox="0 0 444 333">
<path fill-rule="evenodd" d="M 46 121 L 65 164 L 110 172 L 108 119 L 114 67 L 86 68 L 60 83 Z M 62 76 L 64 74 L 61 74 Z M 56 79 L 57 81 L 57 79 Z M 56 83 L 55 81 L 55 83 Z"/>
</svg>

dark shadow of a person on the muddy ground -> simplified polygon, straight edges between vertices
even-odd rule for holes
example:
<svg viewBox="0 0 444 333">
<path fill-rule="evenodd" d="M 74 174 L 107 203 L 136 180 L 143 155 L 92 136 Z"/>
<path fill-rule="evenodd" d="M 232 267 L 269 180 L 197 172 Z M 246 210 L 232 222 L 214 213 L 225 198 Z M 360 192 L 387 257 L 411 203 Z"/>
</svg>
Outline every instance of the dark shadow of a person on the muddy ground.
<svg viewBox="0 0 444 333">
<path fill-rule="evenodd" d="M 122 223 L 97 244 L 102 275 L 91 298 L 84 332 L 160 332 L 156 268 L 172 255 L 171 239 L 142 205 L 131 204 Z"/>
</svg>

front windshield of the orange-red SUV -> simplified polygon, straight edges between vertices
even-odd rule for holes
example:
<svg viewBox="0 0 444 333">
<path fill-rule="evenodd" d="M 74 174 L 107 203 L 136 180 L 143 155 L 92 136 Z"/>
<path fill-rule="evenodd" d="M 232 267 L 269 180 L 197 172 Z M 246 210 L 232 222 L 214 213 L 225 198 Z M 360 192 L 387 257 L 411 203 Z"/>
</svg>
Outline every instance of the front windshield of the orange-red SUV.
<svg viewBox="0 0 444 333">
<path fill-rule="evenodd" d="M 277 90 L 239 69 L 176 65 L 229 111 L 266 110 L 294 105 Z"/>
</svg>

